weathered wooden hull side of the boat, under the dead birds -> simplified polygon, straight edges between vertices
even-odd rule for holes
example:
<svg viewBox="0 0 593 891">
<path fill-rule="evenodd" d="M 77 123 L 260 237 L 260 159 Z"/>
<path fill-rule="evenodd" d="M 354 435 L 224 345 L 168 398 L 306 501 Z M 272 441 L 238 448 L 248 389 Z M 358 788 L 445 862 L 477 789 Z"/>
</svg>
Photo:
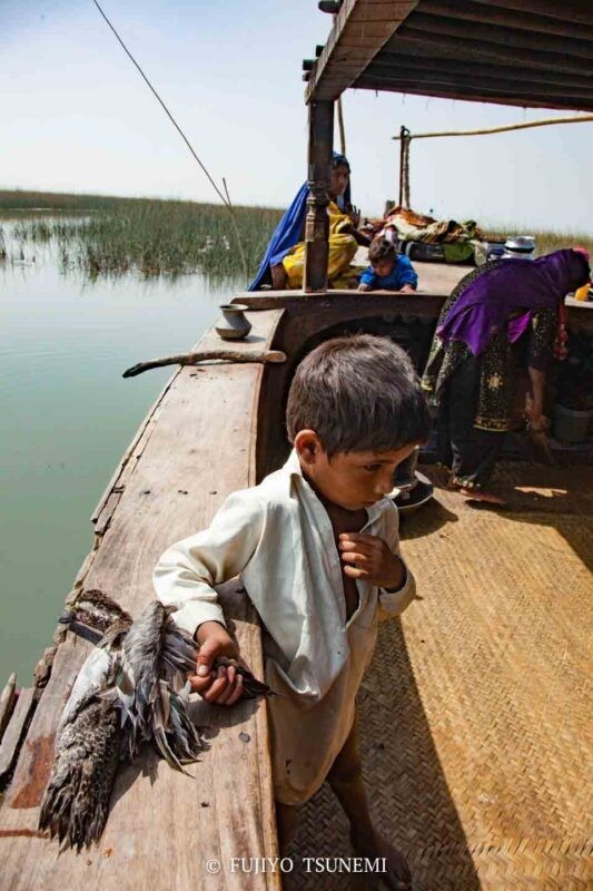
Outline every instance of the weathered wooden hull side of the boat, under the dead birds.
<svg viewBox="0 0 593 891">
<path fill-rule="evenodd" d="M 300 358 L 330 334 L 380 325 L 399 324 L 403 336 L 416 325 L 425 332 L 425 344 L 444 293 L 364 298 L 352 292 L 314 297 L 268 293 L 237 300 L 249 304 L 254 327 L 236 349 L 278 349 L 288 361 L 267 366 L 214 362 L 174 374 L 95 511 L 93 548 L 70 598 L 100 588 L 137 614 L 154 596 L 151 572 L 161 551 L 206 526 L 229 492 L 255 484 L 283 462 L 288 450 L 284 405 Z M 217 344 L 213 330 L 197 349 Z M 434 531 L 429 522 L 422 533 Z M 241 652 L 261 676 L 260 634 L 249 601 L 236 581 L 224 586 L 221 596 Z M 413 660 L 424 645 L 421 633 L 412 626 L 411 639 L 418 646 Z M 11 775 L 11 781 L 0 807 L 2 888 L 132 891 L 147 883 L 155 891 L 278 889 L 278 871 L 245 872 L 234 861 L 278 853 L 265 703 L 234 709 L 197 704 L 196 719 L 209 727 L 211 745 L 192 768 L 195 779 L 175 774 L 146 752 L 120 772 L 100 844 L 79 856 L 57 856 L 57 843 L 37 830 L 39 804 L 59 716 L 88 650 L 69 633 L 57 638 L 26 704 L 28 714 L 19 717 L 23 738 L 4 752 L 10 762 L 4 779 Z M 415 670 L 422 673 L 421 664 Z M 220 871 L 208 872 L 216 864 Z"/>
</svg>

